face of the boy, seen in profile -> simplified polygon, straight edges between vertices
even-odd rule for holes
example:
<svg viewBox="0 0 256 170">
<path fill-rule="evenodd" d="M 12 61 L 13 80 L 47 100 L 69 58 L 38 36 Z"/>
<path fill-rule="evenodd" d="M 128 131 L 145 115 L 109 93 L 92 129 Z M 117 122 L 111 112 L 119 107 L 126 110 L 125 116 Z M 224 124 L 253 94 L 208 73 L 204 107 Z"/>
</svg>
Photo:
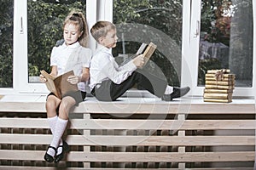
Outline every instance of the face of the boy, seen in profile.
<svg viewBox="0 0 256 170">
<path fill-rule="evenodd" d="M 116 30 L 111 29 L 108 31 L 106 37 L 101 37 L 99 42 L 107 48 L 115 48 L 118 37 L 116 36 Z"/>
</svg>

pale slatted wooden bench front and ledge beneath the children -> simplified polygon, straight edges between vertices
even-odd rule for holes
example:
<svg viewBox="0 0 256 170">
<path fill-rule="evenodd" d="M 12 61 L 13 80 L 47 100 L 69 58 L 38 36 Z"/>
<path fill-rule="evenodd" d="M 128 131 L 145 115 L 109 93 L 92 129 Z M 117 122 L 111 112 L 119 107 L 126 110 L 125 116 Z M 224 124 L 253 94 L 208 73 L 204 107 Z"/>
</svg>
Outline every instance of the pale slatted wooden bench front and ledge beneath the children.
<svg viewBox="0 0 256 170">
<path fill-rule="evenodd" d="M 64 161 L 44 161 L 51 140 L 44 97 L 0 100 L 0 169 L 253 169 L 254 99 L 206 103 L 87 98 L 70 114 Z"/>
</svg>

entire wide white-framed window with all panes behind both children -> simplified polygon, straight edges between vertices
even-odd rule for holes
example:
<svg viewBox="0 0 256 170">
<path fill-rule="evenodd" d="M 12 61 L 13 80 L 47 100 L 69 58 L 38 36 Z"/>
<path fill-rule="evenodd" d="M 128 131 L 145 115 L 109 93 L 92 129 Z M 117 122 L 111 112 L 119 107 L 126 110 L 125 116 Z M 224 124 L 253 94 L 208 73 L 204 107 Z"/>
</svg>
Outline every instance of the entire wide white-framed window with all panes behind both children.
<svg viewBox="0 0 256 170">
<path fill-rule="evenodd" d="M 154 42 L 158 47 L 147 68 L 166 77 L 170 85 L 189 85 L 192 94 L 202 95 L 202 73 L 213 67 L 228 67 L 236 74 L 233 95 L 254 94 L 256 3 L 252 0 L 2 1 L 1 94 L 48 93 L 45 85 L 38 83 L 39 71 L 49 71 L 51 48 L 62 38 L 62 20 L 72 8 L 84 14 L 86 11 L 89 29 L 96 20 L 116 24 L 119 42 L 113 55 L 119 62 L 134 54 L 142 42 Z M 225 27 L 230 32 L 225 36 L 221 30 L 214 34 L 218 28 L 214 11 L 220 15 L 231 12 L 229 19 L 223 17 L 230 22 Z M 96 48 L 92 37 L 89 47 Z"/>
</svg>

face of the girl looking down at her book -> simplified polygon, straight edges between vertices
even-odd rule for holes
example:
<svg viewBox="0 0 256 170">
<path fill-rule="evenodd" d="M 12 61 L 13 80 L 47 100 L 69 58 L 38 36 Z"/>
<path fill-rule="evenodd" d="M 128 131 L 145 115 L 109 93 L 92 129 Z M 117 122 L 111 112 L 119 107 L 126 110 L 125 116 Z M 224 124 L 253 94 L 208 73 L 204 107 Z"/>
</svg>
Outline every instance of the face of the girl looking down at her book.
<svg viewBox="0 0 256 170">
<path fill-rule="evenodd" d="M 63 37 L 66 45 L 71 45 L 74 42 L 77 42 L 81 34 L 82 33 L 79 32 L 79 26 L 73 25 L 71 23 L 67 23 L 64 26 Z"/>
</svg>

